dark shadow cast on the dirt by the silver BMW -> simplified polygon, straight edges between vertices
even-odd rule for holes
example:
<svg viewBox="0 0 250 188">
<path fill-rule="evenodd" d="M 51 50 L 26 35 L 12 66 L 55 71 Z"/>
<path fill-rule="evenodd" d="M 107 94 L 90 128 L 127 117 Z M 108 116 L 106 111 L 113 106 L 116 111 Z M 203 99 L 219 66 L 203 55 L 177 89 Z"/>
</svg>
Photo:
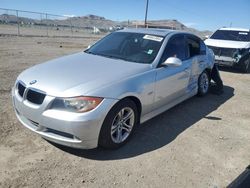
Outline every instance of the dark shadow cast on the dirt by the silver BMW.
<svg viewBox="0 0 250 188">
<path fill-rule="evenodd" d="M 203 118 L 220 121 L 221 117 L 209 116 L 209 114 L 233 96 L 234 89 L 225 86 L 224 93 L 220 96 L 208 94 L 205 97 L 195 96 L 188 99 L 138 126 L 130 141 L 117 150 L 102 148 L 80 150 L 52 144 L 65 152 L 93 160 L 117 160 L 135 157 L 166 146 L 179 134 Z"/>
</svg>

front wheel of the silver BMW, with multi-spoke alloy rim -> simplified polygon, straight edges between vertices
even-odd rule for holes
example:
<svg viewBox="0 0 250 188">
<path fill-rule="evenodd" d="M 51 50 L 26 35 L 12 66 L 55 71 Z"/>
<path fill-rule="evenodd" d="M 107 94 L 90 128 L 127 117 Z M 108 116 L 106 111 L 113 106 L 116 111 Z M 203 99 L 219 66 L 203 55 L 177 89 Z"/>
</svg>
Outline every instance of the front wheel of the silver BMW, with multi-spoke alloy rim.
<svg viewBox="0 0 250 188">
<path fill-rule="evenodd" d="M 138 122 L 136 104 L 124 99 L 113 106 L 106 116 L 99 136 L 99 146 L 115 149 L 124 145 L 131 137 Z"/>
</svg>

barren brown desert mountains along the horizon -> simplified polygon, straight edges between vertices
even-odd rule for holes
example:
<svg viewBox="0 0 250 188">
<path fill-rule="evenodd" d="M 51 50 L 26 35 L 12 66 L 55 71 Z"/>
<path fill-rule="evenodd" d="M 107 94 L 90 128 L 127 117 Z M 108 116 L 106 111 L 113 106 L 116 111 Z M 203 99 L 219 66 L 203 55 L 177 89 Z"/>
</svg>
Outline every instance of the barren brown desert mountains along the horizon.
<svg viewBox="0 0 250 188">
<path fill-rule="evenodd" d="M 81 28 L 99 28 L 101 30 L 110 30 L 124 27 L 144 27 L 143 21 L 128 20 L 123 22 L 113 21 L 96 15 L 86 15 L 69 17 L 65 19 L 32 19 L 27 17 L 16 17 L 15 15 L 2 14 L 0 15 L 0 23 L 2 24 L 15 24 L 20 23 L 22 25 L 49 25 L 57 27 L 81 27 Z M 210 35 L 211 31 L 199 31 L 194 28 L 189 28 L 179 22 L 178 20 L 148 20 L 148 27 L 154 28 L 167 28 L 177 29 L 192 32 L 200 37 Z"/>
</svg>

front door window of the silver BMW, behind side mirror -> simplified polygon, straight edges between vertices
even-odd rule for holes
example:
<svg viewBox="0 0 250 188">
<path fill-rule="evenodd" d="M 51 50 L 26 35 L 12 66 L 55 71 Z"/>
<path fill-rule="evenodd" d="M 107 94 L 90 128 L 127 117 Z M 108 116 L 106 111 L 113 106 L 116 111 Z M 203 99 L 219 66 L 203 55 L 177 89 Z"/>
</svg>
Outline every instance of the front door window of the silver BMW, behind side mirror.
<svg viewBox="0 0 250 188">
<path fill-rule="evenodd" d="M 183 35 L 173 36 L 167 43 L 162 62 L 169 57 L 177 57 L 180 60 L 187 59 L 186 45 Z"/>
</svg>

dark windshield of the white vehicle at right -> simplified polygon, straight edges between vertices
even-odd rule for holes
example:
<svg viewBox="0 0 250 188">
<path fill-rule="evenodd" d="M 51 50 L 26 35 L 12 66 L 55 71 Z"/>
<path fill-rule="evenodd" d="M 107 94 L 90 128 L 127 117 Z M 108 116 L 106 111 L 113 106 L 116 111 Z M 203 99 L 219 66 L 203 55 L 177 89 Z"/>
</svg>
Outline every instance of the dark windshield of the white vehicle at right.
<svg viewBox="0 0 250 188">
<path fill-rule="evenodd" d="M 217 30 L 210 38 L 249 42 L 250 34 L 246 31 Z"/>
</svg>

